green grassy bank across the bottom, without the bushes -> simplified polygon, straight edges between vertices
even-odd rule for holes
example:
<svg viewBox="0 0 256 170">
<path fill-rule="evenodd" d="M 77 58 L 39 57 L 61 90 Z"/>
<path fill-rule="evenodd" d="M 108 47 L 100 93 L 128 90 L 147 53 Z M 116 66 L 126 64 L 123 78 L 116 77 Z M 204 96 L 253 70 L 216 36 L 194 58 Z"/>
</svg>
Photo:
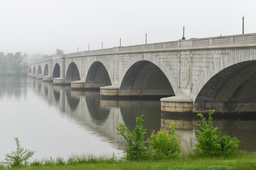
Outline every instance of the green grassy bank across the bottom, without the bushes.
<svg viewBox="0 0 256 170">
<path fill-rule="evenodd" d="M 74 162 L 73 162 L 74 163 Z M 102 159 L 100 162 L 55 162 L 53 164 L 26 166 L 11 169 L 256 169 L 256 153 L 240 153 L 234 157 L 180 157 L 149 162 L 113 161 Z"/>
</svg>

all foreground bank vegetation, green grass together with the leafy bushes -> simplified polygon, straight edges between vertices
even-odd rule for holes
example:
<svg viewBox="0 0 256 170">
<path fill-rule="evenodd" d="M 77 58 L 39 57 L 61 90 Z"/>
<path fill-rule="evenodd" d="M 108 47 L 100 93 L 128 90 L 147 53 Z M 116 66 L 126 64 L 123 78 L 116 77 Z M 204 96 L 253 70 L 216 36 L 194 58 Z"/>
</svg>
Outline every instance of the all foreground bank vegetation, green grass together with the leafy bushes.
<svg viewBox="0 0 256 170">
<path fill-rule="evenodd" d="M 179 144 L 176 124 L 171 131 L 152 132 L 144 140 L 143 115 L 136 119 L 136 126 L 130 132 L 126 125 L 119 123 L 117 130 L 124 137 L 124 157 L 95 157 L 93 155 L 72 156 L 68 159 L 34 160 L 28 163 L 34 151 L 21 147 L 17 137 L 16 151 L 6 154 L 0 169 L 256 169 L 256 152 L 238 150 L 240 140 L 228 135 L 221 136 L 218 127 L 213 127 L 214 110 L 209 111 L 208 121 L 201 113 L 201 130 L 195 130 L 196 149 L 185 154 Z M 149 145 L 146 146 L 146 143 Z"/>
</svg>

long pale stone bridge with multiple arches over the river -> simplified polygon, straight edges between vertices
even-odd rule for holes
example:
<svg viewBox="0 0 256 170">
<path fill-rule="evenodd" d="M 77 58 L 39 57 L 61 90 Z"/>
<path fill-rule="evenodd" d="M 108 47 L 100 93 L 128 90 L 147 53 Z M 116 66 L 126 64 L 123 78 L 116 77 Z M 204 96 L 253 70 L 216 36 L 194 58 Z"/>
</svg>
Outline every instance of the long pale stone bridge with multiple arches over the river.
<svg viewBox="0 0 256 170">
<path fill-rule="evenodd" d="M 256 110 L 256 33 L 76 52 L 29 64 L 28 76 L 102 97 L 161 98 L 161 111 Z"/>
</svg>

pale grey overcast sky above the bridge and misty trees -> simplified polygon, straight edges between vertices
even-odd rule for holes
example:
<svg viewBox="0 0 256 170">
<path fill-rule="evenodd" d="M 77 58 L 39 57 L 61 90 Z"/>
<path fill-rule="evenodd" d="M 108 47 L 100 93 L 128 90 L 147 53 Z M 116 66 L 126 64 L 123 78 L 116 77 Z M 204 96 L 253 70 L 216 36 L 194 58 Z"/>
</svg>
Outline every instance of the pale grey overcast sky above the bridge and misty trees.
<svg viewBox="0 0 256 170">
<path fill-rule="evenodd" d="M 0 0 L 0 52 L 50 55 L 256 33 L 255 0 Z"/>
</svg>

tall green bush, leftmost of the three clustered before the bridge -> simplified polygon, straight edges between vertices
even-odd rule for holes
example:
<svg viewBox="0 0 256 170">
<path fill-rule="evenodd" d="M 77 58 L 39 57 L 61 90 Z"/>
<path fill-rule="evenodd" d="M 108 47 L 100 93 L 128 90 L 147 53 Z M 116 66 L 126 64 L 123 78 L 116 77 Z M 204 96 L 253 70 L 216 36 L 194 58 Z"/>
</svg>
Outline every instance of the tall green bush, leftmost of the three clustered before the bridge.
<svg viewBox="0 0 256 170">
<path fill-rule="evenodd" d="M 143 115 L 142 115 L 143 116 Z M 126 159 L 128 160 L 144 160 L 149 159 L 149 149 L 145 146 L 144 134 L 146 130 L 143 128 L 142 116 L 136 118 L 136 126 L 132 132 L 128 130 L 125 124 L 119 123 L 117 125 L 117 130 L 119 135 L 122 135 L 125 140 L 126 148 L 124 152 L 126 153 Z"/>
</svg>

